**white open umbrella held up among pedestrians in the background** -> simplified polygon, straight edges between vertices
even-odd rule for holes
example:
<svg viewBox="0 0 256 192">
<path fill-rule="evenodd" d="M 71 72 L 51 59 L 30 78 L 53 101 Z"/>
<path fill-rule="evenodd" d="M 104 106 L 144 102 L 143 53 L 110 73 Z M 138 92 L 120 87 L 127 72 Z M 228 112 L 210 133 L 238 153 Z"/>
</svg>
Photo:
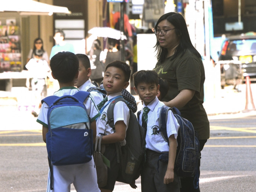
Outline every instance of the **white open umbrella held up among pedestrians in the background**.
<svg viewBox="0 0 256 192">
<path fill-rule="evenodd" d="M 96 35 L 97 37 L 113 38 L 119 40 L 121 37 L 127 39 L 125 35 L 121 36 L 120 30 L 113 29 L 111 27 L 93 27 L 88 30 L 89 34 Z"/>
</svg>

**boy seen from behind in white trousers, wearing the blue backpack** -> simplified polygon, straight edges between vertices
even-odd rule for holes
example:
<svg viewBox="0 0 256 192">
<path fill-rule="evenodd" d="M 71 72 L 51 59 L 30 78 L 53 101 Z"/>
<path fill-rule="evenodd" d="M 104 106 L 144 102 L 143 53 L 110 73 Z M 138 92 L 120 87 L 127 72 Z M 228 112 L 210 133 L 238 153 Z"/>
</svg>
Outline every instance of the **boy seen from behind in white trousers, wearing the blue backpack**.
<svg viewBox="0 0 256 192">
<path fill-rule="evenodd" d="M 74 82 L 78 78 L 79 61 L 77 56 L 71 52 L 59 52 L 50 60 L 52 76 L 59 82 L 60 89 L 54 93 L 55 96 L 74 95 L 78 89 L 74 87 Z M 90 129 L 93 130 L 93 137 L 96 137 L 96 118 L 99 117 L 99 111 L 94 104 L 93 98 L 89 95 L 84 100 L 84 105 L 88 116 L 90 117 Z M 37 122 L 43 125 L 43 140 L 46 142 L 46 133 L 48 132 L 47 111 L 48 105 L 43 102 Z M 65 119 L 63 119 L 64 121 Z M 52 123 L 51 123 L 52 124 Z M 83 124 L 83 123 L 80 123 Z M 78 126 L 79 124 L 76 124 Z M 79 129 L 78 127 L 67 128 Z M 82 125 L 81 125 L 82 126 Z M 84 125 L 83 125 L 84 126 Z M 80 127 L 82 129 L 82 127 Z M 48 137 L 47 137 L 48 138 Z M 77 142 L 73 141 L 74 144 Z M 62 146 L 62 143 L 59 143 Z M 76 191 L 80 192 L 100 192 L 97 183 L 96 169 L 93 158 L 87 163 L 76 165 L 61 165 L 53 168 L 53 190 L 50 190 L 50 172 L 48 175 L 47 192 L 70 192 L 70 184 L 74 184 Z"/>
</svg>

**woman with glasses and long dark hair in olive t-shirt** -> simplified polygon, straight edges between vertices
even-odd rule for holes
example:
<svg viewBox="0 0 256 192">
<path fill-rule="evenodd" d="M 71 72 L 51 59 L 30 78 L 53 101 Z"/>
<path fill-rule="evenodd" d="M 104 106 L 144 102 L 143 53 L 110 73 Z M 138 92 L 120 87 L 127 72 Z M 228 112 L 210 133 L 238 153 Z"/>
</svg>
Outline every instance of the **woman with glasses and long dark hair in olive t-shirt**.
<svg viewBox="0 0 256 192">
<path fill-rule="evenodd" d="M 157 37 L 157 64 L 154 70 L 169 84 L 165 105 L 177 107 L 198 134 L 200 151 L 210 136 L 209 120 L 203 107 L 204 66 L 200 53 L 192 45 L 186 21 L 181 14 L 162 15 L 154 29 Z M 198 168 L 199 169 L 199 168 Z M 194 189 L 193 177 L 181 178 L 181 192 L 200 192 Z"/>
</svg>

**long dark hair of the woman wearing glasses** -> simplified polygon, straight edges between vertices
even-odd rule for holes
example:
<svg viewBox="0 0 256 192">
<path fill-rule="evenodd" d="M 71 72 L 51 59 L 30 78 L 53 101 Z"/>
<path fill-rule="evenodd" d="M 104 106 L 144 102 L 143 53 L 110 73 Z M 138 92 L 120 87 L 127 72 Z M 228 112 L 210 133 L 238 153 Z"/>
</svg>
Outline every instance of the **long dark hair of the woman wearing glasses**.
<svg viewBox="0 0 256 192">
<path fill-rule="evenodd" d="M 195 47 L 191 43 L 189 32 L 187 30 L 187 24 L 186 21 L 184 20 L 184 17 L 181 14 L 175 12 L 166 13 L 158 19 L 157 23 L 155 24 L 155 29 L 157 29 L 158 24 L 163 20 L 167 20 L 175 27 L 175 33 L 180 40 L 180 43 L 175 49 L 173 59 L 177 57 L 177 55 L 180 53 L 181 56 L 183 56 L 186 49 L 189 49 L 192 53 L 197 55 L 198 58 L 201 58 L 200 53 L 195 49 Z M 157 51 L 157 60 L 163 62 L 168 54 L 168 50 L 164 47 L 161 47 L 158 41 L 154 47 L 155 51 Z"/>
</svg>

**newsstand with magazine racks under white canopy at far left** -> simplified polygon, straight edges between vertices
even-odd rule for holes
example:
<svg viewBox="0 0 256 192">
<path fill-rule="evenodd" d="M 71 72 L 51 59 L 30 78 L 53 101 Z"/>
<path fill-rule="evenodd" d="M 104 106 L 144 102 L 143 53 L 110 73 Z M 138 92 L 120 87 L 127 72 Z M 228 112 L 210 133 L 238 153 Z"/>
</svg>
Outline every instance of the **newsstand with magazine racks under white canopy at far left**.
<svg viewBox="0 0 256 192">
<path fill-rule="evenodd" d="M 69 14 L 66 7 L 48 5 L 33 0 L 8 0 L 0 7 L 0 90 L 11 91 L 12 87 L 25 87 L 29 73 L 23 70 L 26 64 L 26 47 L 31 30 L 27 21 L 35 15 L 53 13 Z M 34 15 L 34 16 L 31 16 Z M 34 32 L 38 32 L 34 26 Z M 39 33 L 40 34 L 40 33 Z M 39 35 L 38 35 L 39 36 Z"/>
</svg>

